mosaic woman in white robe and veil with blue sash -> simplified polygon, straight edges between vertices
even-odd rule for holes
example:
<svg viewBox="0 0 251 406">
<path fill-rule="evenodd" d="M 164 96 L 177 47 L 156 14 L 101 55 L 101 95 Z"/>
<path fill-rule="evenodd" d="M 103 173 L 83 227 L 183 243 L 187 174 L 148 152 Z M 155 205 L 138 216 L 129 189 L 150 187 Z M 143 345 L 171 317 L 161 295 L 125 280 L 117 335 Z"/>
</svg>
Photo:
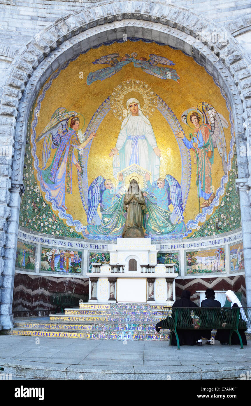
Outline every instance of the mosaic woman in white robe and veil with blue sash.
<svg viewBox="0 0 251 406">
<path fill-rule="evenodd" d="M 113 174 L 118 173 L 132 164 L 137 164 L 152 174 L 152 182 L 159 178 L 160 149 L 150 121 L 142 113 L 139 101 L 135 98 L 127 100 L 125 119 L 122 122 L 116 147 L 109 153 L 113 157 Z"/>
</svg>

